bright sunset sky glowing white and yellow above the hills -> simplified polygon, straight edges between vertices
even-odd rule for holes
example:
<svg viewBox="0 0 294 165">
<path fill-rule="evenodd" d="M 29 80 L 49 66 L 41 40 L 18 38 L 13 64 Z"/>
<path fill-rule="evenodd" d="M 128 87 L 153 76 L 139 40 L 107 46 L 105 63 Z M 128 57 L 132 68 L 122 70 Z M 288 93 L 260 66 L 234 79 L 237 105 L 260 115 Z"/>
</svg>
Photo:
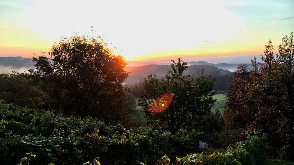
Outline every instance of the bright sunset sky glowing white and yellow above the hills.
<svg viewBox="0 0 294 165">
<path fill-rule="evenodd" d="M 0 0 L 0 56 L 33 57 L 74 32 L 128 61 L 261 55 L 294 32 L 294 0 Z M 112 44 L 111 44 L 112 43 Z"/>
</svg>

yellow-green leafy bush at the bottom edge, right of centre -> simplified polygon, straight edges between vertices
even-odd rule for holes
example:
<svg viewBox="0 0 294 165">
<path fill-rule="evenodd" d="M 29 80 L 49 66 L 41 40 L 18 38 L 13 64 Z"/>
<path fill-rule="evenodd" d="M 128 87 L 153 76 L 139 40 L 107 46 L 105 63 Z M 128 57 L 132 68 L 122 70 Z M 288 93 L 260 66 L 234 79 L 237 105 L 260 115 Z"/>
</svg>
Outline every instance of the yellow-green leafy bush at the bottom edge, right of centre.
<svg viewBox="0 0 294 165">
<path fill-rule="evenodd" d="M 245 142 L 230 144 L 224 153 L 214 152 L 213 154 L 187 154 L 183 158 L 176 158 L 175 164 L 195 165 L 195 164 L 266 164 L 265 155 L 266 136 L 249 136 Z M 144 163 L 142 163 L 144 164 Z M 164 155 L 158 161 L 159 165 L 169 165 L 170 158 Z"/>
</svg>

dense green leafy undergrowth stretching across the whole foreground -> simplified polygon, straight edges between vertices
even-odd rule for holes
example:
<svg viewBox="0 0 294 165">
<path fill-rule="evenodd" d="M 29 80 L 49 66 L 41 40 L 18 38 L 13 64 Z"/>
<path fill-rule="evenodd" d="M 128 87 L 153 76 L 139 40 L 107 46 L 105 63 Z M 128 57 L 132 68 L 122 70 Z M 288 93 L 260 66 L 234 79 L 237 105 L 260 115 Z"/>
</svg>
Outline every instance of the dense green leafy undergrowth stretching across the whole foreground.
<svg viewBox="0 0 294 165">
<path fill-rule="evenodd" d="M 102 165 L 165 164 L 173 160 L 176 164 L 263 164 L 266 161 L 265 136 L 257 135 L 230 145 L 223 153 L 186 156 L 201 153 L 199 140 L 203 136 L 201 132 L 185 130 L 172 135 L 156 126 L 131 130 L 93 118 L 64 118 L 45 110 L 0 103 L 3 164 L 18 164 L 24 156 L 23 163 L 33 164 L 83 164 L 94 159 Z M 157 162 L 162 155 L 166 156 Z"/>
</svg>

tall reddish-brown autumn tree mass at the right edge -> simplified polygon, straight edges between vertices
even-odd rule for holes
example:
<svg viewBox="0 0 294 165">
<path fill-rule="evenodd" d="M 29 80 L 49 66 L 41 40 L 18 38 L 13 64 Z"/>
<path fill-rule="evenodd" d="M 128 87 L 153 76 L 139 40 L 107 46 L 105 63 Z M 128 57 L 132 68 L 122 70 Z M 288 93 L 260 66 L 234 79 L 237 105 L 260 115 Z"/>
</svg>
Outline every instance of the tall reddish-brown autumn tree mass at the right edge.
<svg viewBox="0 0 294 165">
<path fill-rule="evenodd" d="M 281 148 L 281 157 L 294 158 L 294 33 L 285 35 L 278 52 L 271 40 L 261 63 L 239 67 L 228 91 L 226 123 L 259 128 L 270 134 L 270 145 Z M 286 154 L 285 154 L 286 153 Z"/>
</svg>

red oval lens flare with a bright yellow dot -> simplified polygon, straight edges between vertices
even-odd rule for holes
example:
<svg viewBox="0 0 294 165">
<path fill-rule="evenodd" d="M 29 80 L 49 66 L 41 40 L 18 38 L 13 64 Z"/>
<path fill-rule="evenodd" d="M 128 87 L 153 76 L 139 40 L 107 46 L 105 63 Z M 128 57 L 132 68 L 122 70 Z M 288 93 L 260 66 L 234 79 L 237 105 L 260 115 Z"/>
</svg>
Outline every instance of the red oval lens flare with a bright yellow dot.
<svg viewBox="0 0 294 165">
<path fill-rule="evenodd" d="M 164 111 L 172 103 L 172 98 L 172 92 L 159 96 L 150 106 L 149 112 L 158 113 Z"/>
</svg>

